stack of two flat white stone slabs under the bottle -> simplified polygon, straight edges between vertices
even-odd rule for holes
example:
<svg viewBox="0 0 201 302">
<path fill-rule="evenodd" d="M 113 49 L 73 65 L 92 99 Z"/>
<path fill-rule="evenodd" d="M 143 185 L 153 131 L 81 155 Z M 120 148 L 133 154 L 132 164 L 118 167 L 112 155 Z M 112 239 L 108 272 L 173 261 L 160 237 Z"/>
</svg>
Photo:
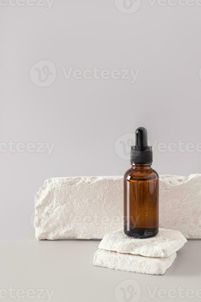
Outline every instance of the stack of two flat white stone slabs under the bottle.
<svg viewBox="0 0 201 302">
<path fill-rule="evenodd" d="M 94 255 L 93 265 L 121 271 L 163 275 L 186 243 L 179 231 L 159 229 L 155 237 L 134 239 L 117 230 L 105 235 Z"/>
</svg>

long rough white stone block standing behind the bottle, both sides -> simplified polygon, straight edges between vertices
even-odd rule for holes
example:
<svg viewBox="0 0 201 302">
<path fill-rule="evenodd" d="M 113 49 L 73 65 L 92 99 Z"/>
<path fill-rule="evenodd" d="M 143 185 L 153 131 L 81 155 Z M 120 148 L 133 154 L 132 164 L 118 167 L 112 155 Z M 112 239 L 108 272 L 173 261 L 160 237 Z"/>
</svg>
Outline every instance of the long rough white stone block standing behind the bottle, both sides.
<svg viewBox="0 0 201 302">
<path fill-rule="evenodd" d="M 201 238 L 201 174 L 160 176 L 160 227 Z M 123 227 L 123 177 L 50 178 L 35 194 L 37 239 L 103 238 Z"/>
</svg>

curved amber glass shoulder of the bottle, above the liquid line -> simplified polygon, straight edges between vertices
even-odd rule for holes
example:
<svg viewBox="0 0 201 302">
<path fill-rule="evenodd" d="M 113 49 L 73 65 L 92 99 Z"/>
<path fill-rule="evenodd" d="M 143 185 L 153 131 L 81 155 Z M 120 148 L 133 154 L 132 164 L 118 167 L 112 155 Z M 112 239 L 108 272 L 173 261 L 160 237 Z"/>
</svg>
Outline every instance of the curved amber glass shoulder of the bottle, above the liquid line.
<svg viewBox="0 0 201 302">
<path fill-rule="evenodd" d="M 124 174 L 125 180 L 145 180 L 145 179 L 159 179 L 159 175 L 156 172 L 156 170 L 150 168 L 148 170 L 146 169 L 133 169 L 130 168 L 126 171 Z"/>
</svg>

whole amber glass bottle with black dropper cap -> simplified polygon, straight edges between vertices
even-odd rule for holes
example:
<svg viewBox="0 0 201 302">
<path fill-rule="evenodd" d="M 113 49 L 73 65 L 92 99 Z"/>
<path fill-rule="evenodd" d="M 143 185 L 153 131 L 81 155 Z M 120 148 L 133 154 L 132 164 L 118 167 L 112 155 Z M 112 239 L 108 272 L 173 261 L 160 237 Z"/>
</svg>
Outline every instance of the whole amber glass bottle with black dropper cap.
<svg viewBox="0 0 201 302">
<path fill-rule="evenodd" d="M 134 238 L 156 236 L 159 231 L 159 176 L 151 168 L 152 147 L 147 130 L 136 130 L 131 147 L 131 169 L 124 175 L 124 233 Z"/>
</svg>

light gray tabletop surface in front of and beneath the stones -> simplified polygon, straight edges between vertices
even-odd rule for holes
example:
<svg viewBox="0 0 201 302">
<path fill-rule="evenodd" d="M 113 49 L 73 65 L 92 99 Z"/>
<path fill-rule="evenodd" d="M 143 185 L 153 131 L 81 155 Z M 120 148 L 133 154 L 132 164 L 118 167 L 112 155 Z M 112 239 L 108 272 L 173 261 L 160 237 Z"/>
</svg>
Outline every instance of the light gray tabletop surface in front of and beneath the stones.
<svg viewBox="0 0 201 302">
<path fill-rule="evenodd" d="M 175 262 L 162 276 L 95 267 L 92 265 L 93 255 L 98 249 L 98 244 L 99 240 L 37 241 L 33 236 L 7 246 L 1 243 L 1 259 L 3 259 L 1 288 L 8 288 L 11 285 L 25 290 L 28 288 L 55 289 L 52 302 L 115 302 L 116 286 L 123 280 L 130 279 L 140 284 L 140 301 L 143 302 L 149 300 L 147 286 L 151 289 L 158 286 L 158 289 L 166 290 L 177 289 L 179 286 L 186 290 L 201 288 L 200 240 L 188 241 L 177 252 Z M 129 281 L 126 282 L 129 284 Z M 119 295 L 117 301 L 118 299 L 120 302 L 125 302 L 123 296 Z M 154 301 L 161 300 L 167 301 L 157 296 Z M 188 301 L 189 299 L 178 298 L 176 301 L 180 300 Z M 32 299 L 32 301 L 38 301 L 38 299 Z"/>
</svg>

